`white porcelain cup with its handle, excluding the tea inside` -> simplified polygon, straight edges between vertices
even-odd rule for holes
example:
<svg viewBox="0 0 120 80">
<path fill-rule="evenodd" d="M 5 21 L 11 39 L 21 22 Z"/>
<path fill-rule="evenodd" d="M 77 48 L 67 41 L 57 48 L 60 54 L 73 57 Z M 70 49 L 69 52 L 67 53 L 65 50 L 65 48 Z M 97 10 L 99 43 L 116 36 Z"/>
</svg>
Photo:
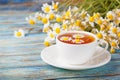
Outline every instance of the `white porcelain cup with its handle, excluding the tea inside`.
<svg viewBox="0 0 120 80">
<path fill-rule="evenodd" d="M 83 33 L 87 35 L 91 35 L 95 38 L 93 42 L 86 43 L 86 44 L 69 44 L 62 42 L 58 39 L 60 35 L 66 34 L 66 33 Z M 91 58 L 93 58 L 93 55 L 95 54 L 96 47 L 99 46 L 99 43 L 105 43 L 106 46 L 103 49 L 103 51 L 100 52 L 104 53 L 105 50 L 108 48 L 108 43 L 104 40 L 98 41 L 96 35 L 85 32 L 85 31 L 67 31 L 62 32 L 56 37 L 56 45 L 57 45 L 57 51 L 58 51 L 58 58 L 61 62 L 67 63 L 67 64 L 84 64 L 87 61 L 89 61 Z M 100 54 L 96 55 L 95 57 L 100 56 Z M 94 57 L 94 58 L 95 58 Z"/>
</svg>

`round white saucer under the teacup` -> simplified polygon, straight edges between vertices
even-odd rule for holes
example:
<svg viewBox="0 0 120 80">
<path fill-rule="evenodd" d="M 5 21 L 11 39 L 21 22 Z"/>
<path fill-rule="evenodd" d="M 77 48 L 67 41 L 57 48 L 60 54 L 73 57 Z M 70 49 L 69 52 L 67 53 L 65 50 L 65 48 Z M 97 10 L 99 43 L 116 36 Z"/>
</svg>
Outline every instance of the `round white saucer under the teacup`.
<svg viewBox="0 0 120 80">
<path fill-rule="evenodd" d="M 101 47 L 97 47 L 97 51 L 95 54 L 96 55 L 99 54 L 99 52 L 102 49 L 103 48 Z M 41 58 L 44 62 L 54 67 L 64 68 L 69 70 L 83 70 L 83 69 L 96 68 L 107 64 L 111 59 L 111 54 L 108 51 L 105 51 L 104 54 L 94 59 L 91 59 L 87 63 L 81 65 L 71 65 L 58 61 L 56 45 L 53 45 L 42 50 Z"/>
</svg>

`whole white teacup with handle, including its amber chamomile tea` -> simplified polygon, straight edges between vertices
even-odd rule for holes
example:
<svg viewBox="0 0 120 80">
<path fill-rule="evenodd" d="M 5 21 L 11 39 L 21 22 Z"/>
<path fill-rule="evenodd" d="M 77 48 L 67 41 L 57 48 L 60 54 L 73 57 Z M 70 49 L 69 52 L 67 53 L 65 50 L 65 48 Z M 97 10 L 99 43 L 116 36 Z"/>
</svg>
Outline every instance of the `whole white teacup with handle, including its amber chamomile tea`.
<svg viewBox="0 0 120 80">
<path fill-rule="evenodd" d="M 99 41 L 96 35 L 86 31 L 62 32 L 56 37 L 58 58 L 66 64 L 84 64 L 93 58 L 100 43 L 105 44 L 101 54 L 108 48 L 108 43 L 105 40 Z"/>
</svg>

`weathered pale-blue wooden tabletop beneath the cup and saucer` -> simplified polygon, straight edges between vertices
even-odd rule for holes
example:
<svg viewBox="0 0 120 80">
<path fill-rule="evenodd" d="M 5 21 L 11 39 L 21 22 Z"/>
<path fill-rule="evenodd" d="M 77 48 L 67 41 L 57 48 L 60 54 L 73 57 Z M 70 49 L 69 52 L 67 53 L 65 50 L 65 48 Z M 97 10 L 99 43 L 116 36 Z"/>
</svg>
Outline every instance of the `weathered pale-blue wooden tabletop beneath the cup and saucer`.
<svg viewBox="0 0 120 80">
<path fill-rule="evenodd" d="M 41 60 L 44 33 L 33 30 L 25 38 L 15 38 L 14 31 L 31 26 L 25 11 L 0 11 L 0 80 L 120 80 L 120 50 L 112 60 L 95 69 L 70 71 L 52 67 Z M 39 27 L 42 29 L 42 25 Z"/>
</svg>

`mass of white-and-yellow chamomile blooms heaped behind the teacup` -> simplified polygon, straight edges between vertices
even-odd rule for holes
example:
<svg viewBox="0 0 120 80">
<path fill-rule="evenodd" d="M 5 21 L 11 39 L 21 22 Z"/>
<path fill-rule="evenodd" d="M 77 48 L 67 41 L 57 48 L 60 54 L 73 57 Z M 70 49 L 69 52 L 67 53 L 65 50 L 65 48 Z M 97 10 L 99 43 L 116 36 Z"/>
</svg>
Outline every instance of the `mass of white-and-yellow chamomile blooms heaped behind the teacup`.
<svg viewBox="0 0 120 80">
<path fill-rule="evenodd" d="M 55 43 L 56 36 L 63 31 L 89 31 L 99 39 L 106 40 L 111 46 L 110 52 L 119 49 L 120 44 L 120 9 L 108 11 L 105 17 L 100 13 L 90 15 L 87 11 L 79 12 L 76 6 L 69 6 L 62 11 L 60 4 L 43 4 L 40 12 L 26 18 L 29 24 L 43 24 L 43 32 L 47 33 L 45 46 Z"/>
</svg>

